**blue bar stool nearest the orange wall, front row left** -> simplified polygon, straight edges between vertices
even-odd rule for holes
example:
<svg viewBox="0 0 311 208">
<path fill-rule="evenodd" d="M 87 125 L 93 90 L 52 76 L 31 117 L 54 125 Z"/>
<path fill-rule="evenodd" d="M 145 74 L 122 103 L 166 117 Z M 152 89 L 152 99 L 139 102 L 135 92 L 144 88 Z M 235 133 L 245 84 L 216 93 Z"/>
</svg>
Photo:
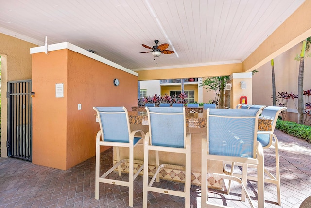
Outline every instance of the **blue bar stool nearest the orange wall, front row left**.
<svg viewBox="0 0 311 208">
<path fill-rule="evenodd" d="M 99 199 L 99 184 L 108 183 L 129 187 L 129 206 L 133 207 L 134 180 L 143 169 L 143 162 L 135 160 L 140 168 L 134 174 L 134 147 L 144 139 L 145 134 L 141 130 L 131 131 L 128 113 L 125 107 L 93 107 L 97 112 L 101 130 L 96 135 L 96 167 L 95 167 L 95 199 Z M 136 134 L 138 135 L 136 136 Z M 113 146 L 117 155 L 116 163 L 103 175 L 100 175 L 100 146 Z M 129 148 L 129 156 L 120 160 L 119 147 Z M 121 164 L 129 163 L 129 181 L 123 181 L 123 177 L 109 178 L 109 174 L 118 168 L 121 176 Z"/>
</svg>

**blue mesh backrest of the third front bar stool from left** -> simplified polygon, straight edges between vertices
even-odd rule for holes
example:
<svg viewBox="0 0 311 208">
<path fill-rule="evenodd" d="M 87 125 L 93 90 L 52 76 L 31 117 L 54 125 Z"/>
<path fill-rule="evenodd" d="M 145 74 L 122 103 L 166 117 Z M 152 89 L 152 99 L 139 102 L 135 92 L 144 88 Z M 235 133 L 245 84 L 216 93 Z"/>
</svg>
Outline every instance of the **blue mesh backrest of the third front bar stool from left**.
<svg viewBox="0 0 311 208">
<path fill-rule="evenodd" d="M 209 109 L 209 154 L 255 158 L 258 114 L 258 110 Z"/>
</svg>

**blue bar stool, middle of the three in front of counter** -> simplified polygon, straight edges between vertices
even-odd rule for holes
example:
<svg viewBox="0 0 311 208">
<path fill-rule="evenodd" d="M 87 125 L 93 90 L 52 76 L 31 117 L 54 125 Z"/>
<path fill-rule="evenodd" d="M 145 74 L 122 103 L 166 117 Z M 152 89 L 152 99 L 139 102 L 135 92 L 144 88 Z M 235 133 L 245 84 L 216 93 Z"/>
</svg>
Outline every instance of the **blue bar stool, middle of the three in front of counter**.
<svg viewBox="0 0 311 208">
<path fill-rule="evenodd" d="M 149 131 L 144 141 L 144 179 L 143 179 L 143 207 L 148 204 L 148 191 L 169 194 L 185 198 L 185 208 L 190 208 L 191 190 L 191 134 L 186 133 L 186 119 L 184 107 L 146 107 Z M 170 158 L 159 159 L 161 153 L 165 155 L 180 154 L 179 164 L 170 163 Z M 152 156 L 155 154 L 155 156 Z M 152 161 L 151 158 L 155 158 Z M 166 162 L 163 162 L 166 160 Z M 152 163 L 153 164 L 149 164 Z M 161 164 L 160 164 L 161 162 Z M 148 165 L 155 165 L 155 174 L 148 183 Z M 173 187 L 153 186 L 156 179 L 160 181 L 161 170 L 178 170 L 184 172 L 184 190 L 173 190 Z M 182 174 L 180 174 L 182 175 Z M 181 178 L 183 179 L 183 178 Z"/>
</svg>

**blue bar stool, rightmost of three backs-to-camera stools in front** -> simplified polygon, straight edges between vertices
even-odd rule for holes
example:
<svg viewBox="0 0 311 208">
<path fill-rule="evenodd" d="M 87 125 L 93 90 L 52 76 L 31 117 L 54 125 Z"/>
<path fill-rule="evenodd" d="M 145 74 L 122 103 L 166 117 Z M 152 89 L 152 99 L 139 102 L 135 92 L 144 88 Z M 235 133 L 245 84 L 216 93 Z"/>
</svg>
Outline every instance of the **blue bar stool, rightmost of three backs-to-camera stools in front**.
<svg viewBox="0 0 311 208">
<path fill-rule="evenodd" d="M 207 138 L 202 138 L 202 194 L 201 206 L 224 207 L 208 202 L 207 177 L 237 181 L 242 186 L 242 201 L 246 191 L 247 165 L 258 167 L 258 208 L 264 208 L 264 161 L 263 149 L 257 141 L 258 110 L 248 109 L 207 109 Z M 242 180 L 238 177 L 219 173 L 207 173 L 207 160 L 240 162 L 243 166 Z M 212 170 L 211 170 L 212 171 Z"/>
</svg>

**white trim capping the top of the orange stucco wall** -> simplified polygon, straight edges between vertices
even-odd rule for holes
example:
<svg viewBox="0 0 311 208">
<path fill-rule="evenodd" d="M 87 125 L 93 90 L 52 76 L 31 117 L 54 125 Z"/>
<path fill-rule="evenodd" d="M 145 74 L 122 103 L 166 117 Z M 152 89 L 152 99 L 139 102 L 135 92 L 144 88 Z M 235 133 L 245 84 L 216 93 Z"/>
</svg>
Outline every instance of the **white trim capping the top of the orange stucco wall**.
<svg viewBox="0 0 311 208">
<path fill-rule="evenodd" d="M 102 62 L 104 64 L 107 64 L 111 67 L 114 67 L 116 69 L 120 69 L 122 71 L 125 71 L 129 74 L 133 74 L 135 76 L 138 77 L 138 73 L 137 72 L 134 72 L 130 69 L 127 69 L 125 67 L 122 67 L 121 65 L 119 64 L 116 64 L 112 61 L 109 61 L 108 59 L 105 59 L 97 54 L 94 54 L 92 52 L 89 52 L 89 51 L 86 51 L 85 49 L 83 48 L 80 48 L 76 45 L 73 45 L 69 42 L 63 42 L 63 43 L 55 43 L 55 44 L 52 44 L 52 45 L 48 45 L 48 51 L 57 51 L 57 50 L 62 50 L 62 49 L 69 49 L 71 51 L 74 51 L 74 52 L 77 52 L 77 53 L 80 53 L 82 55 L 85 55 L 89 58 L 92 58 L 94 60 L 97 60 L 99 62 Z M 34 47 L 34 48 L 31 48 L 30 49 L 30 54 L 34 54 L 34 53 L 41 53 L 41 52 L 45 52 L 45 46 L 38 46 L 38 47 Z"/>
</svg>

